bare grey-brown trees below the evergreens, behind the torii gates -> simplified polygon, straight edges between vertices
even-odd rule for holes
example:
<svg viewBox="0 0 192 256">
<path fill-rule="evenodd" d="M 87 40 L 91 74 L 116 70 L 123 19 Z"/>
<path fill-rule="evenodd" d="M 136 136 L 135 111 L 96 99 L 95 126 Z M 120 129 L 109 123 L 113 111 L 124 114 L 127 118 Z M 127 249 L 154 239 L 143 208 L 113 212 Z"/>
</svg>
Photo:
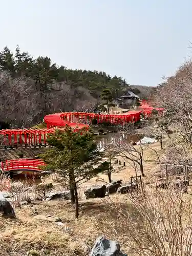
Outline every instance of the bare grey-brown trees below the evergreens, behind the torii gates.
<svg viewBox="0 0 192 256">
<path fill-rule="evenodd" d="M 55 82 L 43 98 L 35 89 L 35 81 L 27 77 L 12 78 L 0 72 L 0 122 L 15 127 L 30 127 L 49 113 L 94 108 L 96 100 L 89 91 L 66 82 Z"/>
</svg>

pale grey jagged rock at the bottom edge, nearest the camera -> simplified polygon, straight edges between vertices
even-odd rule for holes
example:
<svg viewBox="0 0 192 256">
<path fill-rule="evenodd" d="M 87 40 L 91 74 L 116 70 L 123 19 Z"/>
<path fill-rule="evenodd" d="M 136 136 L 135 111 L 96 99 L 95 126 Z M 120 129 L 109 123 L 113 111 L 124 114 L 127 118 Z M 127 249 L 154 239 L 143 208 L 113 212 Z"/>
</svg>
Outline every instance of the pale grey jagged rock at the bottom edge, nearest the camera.
<svg viewBox="0 0 192 256">
<path fill-rule="evenodd" d="M 120 245 L 117 241 L 111 241 L 104 237 L 99 237 L 90 256 L 127 256 L 120 251 Z"/>
</svg>

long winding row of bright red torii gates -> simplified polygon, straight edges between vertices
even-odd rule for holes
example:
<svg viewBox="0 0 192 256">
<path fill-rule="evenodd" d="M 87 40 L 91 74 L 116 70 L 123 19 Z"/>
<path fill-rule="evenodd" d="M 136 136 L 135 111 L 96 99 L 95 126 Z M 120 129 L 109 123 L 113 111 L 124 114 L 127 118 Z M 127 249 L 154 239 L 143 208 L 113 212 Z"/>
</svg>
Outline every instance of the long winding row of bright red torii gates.
<svg viewBox="0 0 192 256">
<path fill-rule="evenodd" d="M 47 124 L 46 129 L 5 129 L 0 130 L 0 135 L 3 135 L 2 146 L 4 148 L 12 148 L 17 146 L 46 146 L 47 134 L 54 133 L 55 129 L 65 130 L 65 126 L 69 125 L 74 129 L 74 132 L 85 127 L 89 129 L 93 119 L 97 120 L 98 124 L 110 122 L 113 125 L 125 125 L 127 123 L 136 123 L 140 120 L 141 113 L 144 117 L 150 117 L 153 107 L 149 106 L 145 101 L 142 102 L 140 110 L 129 111 L 119 115 L 100 115 L 95 113 L 83 112 L 65 112 L 47 115 L 44 118 Z M 161 112 L 163 109 L 156 109 Z"/>
</svg>

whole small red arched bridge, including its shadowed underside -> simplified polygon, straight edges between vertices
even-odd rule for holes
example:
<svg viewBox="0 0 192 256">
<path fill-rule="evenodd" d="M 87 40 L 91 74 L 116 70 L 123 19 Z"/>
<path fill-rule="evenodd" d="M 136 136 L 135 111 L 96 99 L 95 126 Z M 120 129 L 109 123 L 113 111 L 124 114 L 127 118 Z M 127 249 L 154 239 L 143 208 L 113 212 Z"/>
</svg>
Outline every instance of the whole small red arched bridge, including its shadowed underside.
<svg viewBox="0 0 192 256">
<path fill-rule="evenodd" d="M 1 170 L 3 174 L 12 173 L 36 177 L 41 172 L 40 166 L 45 165 L 45 162 L 40 159 L 19 158 L 1 162 Z"/>
</svg>

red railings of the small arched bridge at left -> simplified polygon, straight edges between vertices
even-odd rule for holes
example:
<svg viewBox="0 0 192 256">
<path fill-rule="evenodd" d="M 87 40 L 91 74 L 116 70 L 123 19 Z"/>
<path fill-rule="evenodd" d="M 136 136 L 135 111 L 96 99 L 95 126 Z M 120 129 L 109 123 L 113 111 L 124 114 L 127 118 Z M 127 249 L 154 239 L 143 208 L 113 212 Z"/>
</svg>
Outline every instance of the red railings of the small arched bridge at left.
<svg viewBox="0 0 192 256">
<path fill-rule="evenodd" d="M 40 159 L 32 159 L 32 158 L 21 158 L 21 159 L 12 159 L 6 162 L 1 163 L 1 168 L 3 172 L 9 170 L 22 170 L 22 169 L 30 169 L 30 170 L 41 170 L 39 166 L 46 165 L 44 161 Z"/>
</svg>

